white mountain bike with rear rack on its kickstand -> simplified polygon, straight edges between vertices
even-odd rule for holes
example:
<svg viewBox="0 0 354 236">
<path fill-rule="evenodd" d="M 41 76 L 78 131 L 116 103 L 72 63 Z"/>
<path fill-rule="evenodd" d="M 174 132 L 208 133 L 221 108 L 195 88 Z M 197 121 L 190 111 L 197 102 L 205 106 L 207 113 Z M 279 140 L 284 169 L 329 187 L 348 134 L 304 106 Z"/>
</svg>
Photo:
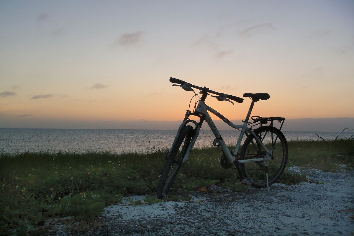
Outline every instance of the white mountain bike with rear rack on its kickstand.
<svg viewBox="0 0 354 236">
<path fill-rule="evenodd" d="M 249 97 L 252 102 L 246 115 L 246 119 L 242 121 L 243 124 L 235 125 L 222 114 L 206 105 L 205 100 L 207 97 L 215 97 L 218 101 L 228 101 L 234 105 L 234 102 L 242 103 L 244 101 L 243 98 L 212 91 L 207 87 L 195 86 L 172 77 L 170 78 L 170 82 L 173 83 L 172 86 L 180 86 L 185 91 L 192 91 L 194 96 L 190 100 L 189 109 L 186 111 L 184 120 L 178 128 L 171 149 L 165 157 L 167 161 L 162 170 L 158 187 L 156 189 L 157 197 L 162 198 L 169 193 L 179 169 L 187 161 L 190 152 L 193 149 L 204 121 L 209 125 L 211 132 L 215 136 L 213 145 L 221 146 L 222 148 L 223 155 L 220 160 L 221 166 L 228 169 L 233 168 L 233 165 L 235 165 L 235 169 L 237 169 L 239 173 L 240 182 L 242 184 L 247 184 L 256 188 L 267 187 L 269 191 L 269 186 L 275 183 L 283 173 L 288 156 L 287 141 L 284 134 L 280 131 L 285 118 L 251 117 L 254 104 L 257 101 L 269 99 L 269 94 L 245 93 L 243 97 Z M 196 93 L 193 88 L 200 90 L 200 93 Z M 199 95 L 201 95 L 201 97 Z M 192 112 L 190 111 L 190 105 L 193 98 L 195 98 L 196 101 L 194 111 Z M 238 141 L 233 150 L 228 149 L 208 111 L 215 114 L 229 126 L 240 131 Z M 199 122 L 190 120 L 189 116 L 198 117 Z M 253 122 L 249 122 L 250 117 Z M 273 126 L 274 121 L 281 123 L 279 129 Z M 268 122 L 270 122 L 270 125 L 265 126 Z M 260 126 L 253 128 L 258 125 Z M 246 134 L 247 138 L 241 147 L 244 134 Z M 239 153 L 238 151 L 240 147 L 241 152 Z"/>
</svg>

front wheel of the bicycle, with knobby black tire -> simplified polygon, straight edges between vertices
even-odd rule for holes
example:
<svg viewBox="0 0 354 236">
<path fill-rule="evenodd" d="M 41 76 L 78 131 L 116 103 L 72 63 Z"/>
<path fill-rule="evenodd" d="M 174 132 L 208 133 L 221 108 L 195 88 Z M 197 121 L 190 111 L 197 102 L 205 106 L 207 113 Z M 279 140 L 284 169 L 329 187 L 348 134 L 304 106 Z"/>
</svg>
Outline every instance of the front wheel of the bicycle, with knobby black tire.
<svg viewBox="0 0 354 236">
<path fill-rule="evenodd" d="M 192 139 L 193 127 L 185 126 L 179 135 L 175 138 L 171 150 L 167 156 L 167 161 L 162 170 L 158 187 L 156 189 L 156 196 L 163 198 L 163 194 L 167 195 L 175 178 L 177 176 L 179 168 L 182 166 L 183 157 L 187 151 L 187 148 Z"/>
</svg>

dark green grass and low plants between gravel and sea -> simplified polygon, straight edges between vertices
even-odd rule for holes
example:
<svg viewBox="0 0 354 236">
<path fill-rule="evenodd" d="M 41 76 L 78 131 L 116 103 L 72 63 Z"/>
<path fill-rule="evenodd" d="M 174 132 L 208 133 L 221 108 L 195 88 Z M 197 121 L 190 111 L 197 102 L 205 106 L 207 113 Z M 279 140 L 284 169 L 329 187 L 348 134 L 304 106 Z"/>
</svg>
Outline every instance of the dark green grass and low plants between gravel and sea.
<svg viewBox="0 0 354 236">
<path fill-rule="evenodd" d="M 167 150 L 148 153 L 112 152 L 19 152 L 0 153 L 0 234 L 40 235 L 36 230 L 45 219 L 71 216 L 93 220 L 107 205 L 121 202 L 122 196 L 147 194 L 154 204 L 154 192 Z M 221 149 L 195 149 L 182 168 L 174 188 L 215 193 L 212 184 L 233 191 L 246 187 L 237 183 L 235 169 L 220 165 Z M 354 140 L 289 142 L 288 166 L 337 171 L 354 167 Z M 296 184 L 306 180 L 301 174 L 285 170 L 280 182 Z M 133 202 L 132 205 L 141 202 Z"/>
</svg>

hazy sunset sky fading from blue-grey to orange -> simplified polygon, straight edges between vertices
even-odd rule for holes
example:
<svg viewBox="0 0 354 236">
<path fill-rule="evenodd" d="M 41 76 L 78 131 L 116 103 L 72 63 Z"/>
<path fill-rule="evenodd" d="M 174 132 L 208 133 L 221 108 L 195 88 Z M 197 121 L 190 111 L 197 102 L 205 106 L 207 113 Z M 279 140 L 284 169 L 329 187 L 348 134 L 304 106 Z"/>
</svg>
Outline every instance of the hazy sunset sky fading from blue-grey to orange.
<svg viewBox="0 0 354 236">
<path fill-rule="evenodd" d="M 193 93 L 174 77 L 338 131 L 353 65 L 352 0 L 0 0 L 0 128 L 175 129 Z M 233 121 L 250 105 L 206 102 Z"/>
</svg>

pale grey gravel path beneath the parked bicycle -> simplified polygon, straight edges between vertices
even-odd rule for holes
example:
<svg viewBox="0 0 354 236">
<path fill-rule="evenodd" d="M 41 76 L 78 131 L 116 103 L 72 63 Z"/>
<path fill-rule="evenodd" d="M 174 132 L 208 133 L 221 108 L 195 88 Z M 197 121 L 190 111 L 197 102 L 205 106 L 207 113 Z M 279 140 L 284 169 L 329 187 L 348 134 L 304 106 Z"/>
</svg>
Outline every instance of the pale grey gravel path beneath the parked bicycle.
<svg viewBox="0 0 354 236">
<path fill-rule="evenodd" d="M 354 171 L 291 171 L 307 174 L 298 185 L 249 187 L 242 192 L 193 192 L 190 201 L 163 201 L 152 205 L 110 205 L 98 228 L 77 231 L 55 224 L 49 235 L 353 235 Z M 132 200 L 145 196 L 130 196 Z"/>
</svg>

